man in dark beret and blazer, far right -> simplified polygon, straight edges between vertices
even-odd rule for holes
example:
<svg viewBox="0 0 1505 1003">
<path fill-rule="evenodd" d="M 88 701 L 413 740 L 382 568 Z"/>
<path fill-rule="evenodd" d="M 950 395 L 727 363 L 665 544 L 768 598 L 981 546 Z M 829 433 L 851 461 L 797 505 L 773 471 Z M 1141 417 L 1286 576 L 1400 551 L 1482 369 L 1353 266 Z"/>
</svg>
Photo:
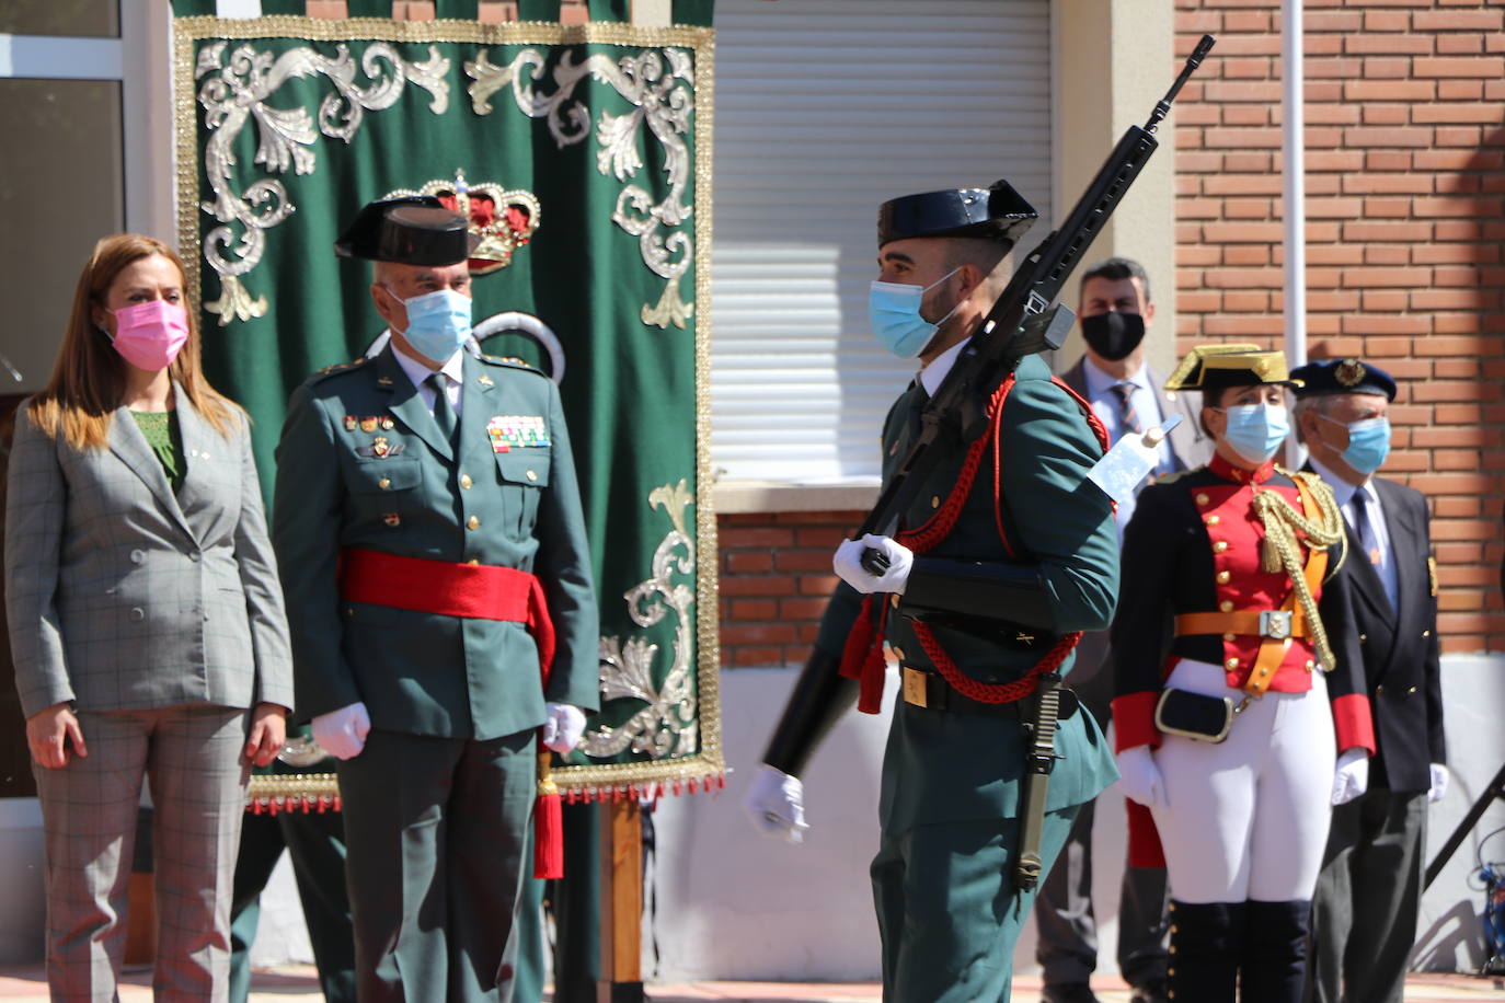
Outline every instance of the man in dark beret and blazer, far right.
<svg viewBox="0 0 1505 1003">
<path fill-rule="evenodd" d="M 1427 801 L 1448 783 L 1437 671 L 1437 573 L 1427 499 L 1380 477 L 1395 380 L 1359 359 L 1291 371 L 1296 427 L 1348 531 L 1353 624 L 1374 707 L 1370 788 L 1332 812 L 1312 899 L 1318 1003 L 1400 1003 L 1416 940 Z"/>
</svg>

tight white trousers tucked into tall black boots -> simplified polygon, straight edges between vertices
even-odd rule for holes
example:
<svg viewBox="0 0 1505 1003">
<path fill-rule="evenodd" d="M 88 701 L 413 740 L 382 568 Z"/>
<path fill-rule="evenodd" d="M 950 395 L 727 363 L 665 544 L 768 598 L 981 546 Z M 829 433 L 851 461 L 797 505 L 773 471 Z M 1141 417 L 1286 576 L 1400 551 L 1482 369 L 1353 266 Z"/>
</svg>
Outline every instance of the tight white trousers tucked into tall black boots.
<svg viewBox="0 0 1505 1003">
<path fill-rule="evenodd" d="M 1224 669 L 1180 662 L 1166 686 L 1209 696 Z M 1154 752 L 1168 806 L 1154 809 L 1171 898 L 1180 902 L 1309 899 L 1321 871 L 1336 762 L 1321 672 L 1306 693 L 1267 692 L 1213 744 L 1165 735 Z"/>
</svg>

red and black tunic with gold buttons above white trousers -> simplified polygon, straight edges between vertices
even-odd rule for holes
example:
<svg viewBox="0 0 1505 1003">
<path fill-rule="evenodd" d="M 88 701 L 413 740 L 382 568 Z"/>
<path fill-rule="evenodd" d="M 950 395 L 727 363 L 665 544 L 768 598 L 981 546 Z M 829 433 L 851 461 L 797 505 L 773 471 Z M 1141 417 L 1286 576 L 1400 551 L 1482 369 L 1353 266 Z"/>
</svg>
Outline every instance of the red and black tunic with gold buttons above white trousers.
<svg viewBox="0 0 1505 1003">
<path fill-rule="evenodd" d="M 1261 567 L 1264 525 L 1254 495 L 1279 492 L 1297 511 L 1294 481 L 1273 463 L 1257 471 L 1230 465 L 1221 456 L 1207 466 L 1151 484 L 1141 495 L 1124 531 L 1118 612 L 1112 627 L 1117 749 L 1160 744 L 1154 705 L 1171 669 L 1181 659 L 1222 665 L 1225 681 L 1243 687 L 1254 668 L 1258 633 L 1177 635 L 1175 617 L 1198 612 L 1276 611 L 1291 594 L 1284 571 Z M 1297 534 L 1300 538 L 1300 534 Z M 1336 547 L 1335 547 L 1336 550 Z M 1302 546 L 1302 562 L 1308 550 Z M 1336 660 L 1327 674 L 1338 749 L 1374 752 L 1364 662 L 1350 627 L 1347 568 L 1333 571 L 1317 591 L 1327 644 Z M 1270 690 L 1303 693 L 1318 671 L 1309 638 L 1290 638 Z"/>
</svg>

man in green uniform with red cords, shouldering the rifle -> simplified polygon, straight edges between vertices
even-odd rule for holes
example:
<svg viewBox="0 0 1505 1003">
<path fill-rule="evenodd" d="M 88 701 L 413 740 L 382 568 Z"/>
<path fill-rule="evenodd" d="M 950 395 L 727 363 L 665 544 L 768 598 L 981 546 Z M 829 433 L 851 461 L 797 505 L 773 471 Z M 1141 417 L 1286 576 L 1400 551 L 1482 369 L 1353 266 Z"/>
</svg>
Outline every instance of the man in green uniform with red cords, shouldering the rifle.
<svg viewBox="0 0 1505 1003">
<path fill-rule="evenodd" d="M 873 331 L 895 355 L 921 362 L 883 426 L 885 480 L 1007 284 L 1004 257 L 1034 215 L 1005 182 L 880 209 Z M 1061 654 L 1072 632 L 1105 629 L 1118 594 L 1111 502 L 1084 480 L 1103 453 L 1088 414 L 1029 355 L 993 392 L 981 445 L 942 426 L 935 448 L 944 459 L 895 535 L 837 550 L 844 585 L 751 785 L 754 821 L 798 841 L 798 776 L 850 705 L 847 677 L 861 677 L 859 708 L 877 710 L 877 645 L 886 636 L 903 693 L 883 756 L 871 868 L 885 1000 L 1008 998 L 1014 941 L 1034 901 L 1016 884 L 1014 865 L 1035 687 L 1050 669 L 1070 671 L 1072 656 Z M 883 555 L 886 571 L 864 565 L 868 549 Z M 1046 869 L 1078 808 L 1115 777 L 1093 716 L 1070 711 L 1063 699 L 1060 758 L 1037 830 Z"/>
</svg>

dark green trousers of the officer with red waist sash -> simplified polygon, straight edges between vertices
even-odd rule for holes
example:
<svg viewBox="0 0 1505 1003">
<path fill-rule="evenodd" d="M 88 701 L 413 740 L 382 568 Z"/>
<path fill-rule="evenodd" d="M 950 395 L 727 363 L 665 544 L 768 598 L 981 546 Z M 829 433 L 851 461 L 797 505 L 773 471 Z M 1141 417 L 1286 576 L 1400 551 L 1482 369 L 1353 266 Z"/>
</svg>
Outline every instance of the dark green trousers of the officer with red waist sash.
<svg viewBox="0 0 1505 1003">
<path fill-rule="evenodd" d="M 533 729 L 489 741 L 373 729 L 339 773 L 361 1003 L 510 1003 Z"/>
</svg>

